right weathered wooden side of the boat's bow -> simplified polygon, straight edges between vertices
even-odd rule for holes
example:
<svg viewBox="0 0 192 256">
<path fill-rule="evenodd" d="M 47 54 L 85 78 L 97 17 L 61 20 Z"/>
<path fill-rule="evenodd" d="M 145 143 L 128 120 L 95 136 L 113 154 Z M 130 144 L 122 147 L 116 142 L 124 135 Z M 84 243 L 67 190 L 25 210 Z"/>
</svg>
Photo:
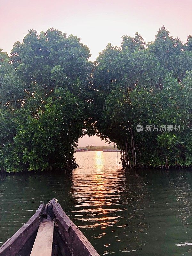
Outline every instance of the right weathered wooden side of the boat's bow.
<svg viewBox="0 0 192 256">
<path fill-rule="evenodd" d="M 55 201 L 53 203 L 53 212 L 56 217 L 58 229 L 63 235 L 63 239 L 66 239 L 69 252 L 73 252 L 73 256 L 99 256 L 92 244 L 68 218 L 60 204 Z"/>
</svg>

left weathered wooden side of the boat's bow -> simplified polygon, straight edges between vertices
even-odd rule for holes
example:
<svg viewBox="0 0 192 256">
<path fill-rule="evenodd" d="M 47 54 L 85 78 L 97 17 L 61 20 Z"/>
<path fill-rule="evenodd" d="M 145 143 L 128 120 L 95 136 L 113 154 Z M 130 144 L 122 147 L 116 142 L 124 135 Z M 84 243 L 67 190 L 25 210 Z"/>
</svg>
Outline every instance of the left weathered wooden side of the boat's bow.
<svg viewBox="0 0 192 256">
<path fill-rule="evenodd" d="M 38 229 L 42 221 L 43 209 L 44 204 L 41 204 L 30 220 L 0 247 L 0 256 L 15 256 L 24 247 L 28 239 Z"/>
</svg>

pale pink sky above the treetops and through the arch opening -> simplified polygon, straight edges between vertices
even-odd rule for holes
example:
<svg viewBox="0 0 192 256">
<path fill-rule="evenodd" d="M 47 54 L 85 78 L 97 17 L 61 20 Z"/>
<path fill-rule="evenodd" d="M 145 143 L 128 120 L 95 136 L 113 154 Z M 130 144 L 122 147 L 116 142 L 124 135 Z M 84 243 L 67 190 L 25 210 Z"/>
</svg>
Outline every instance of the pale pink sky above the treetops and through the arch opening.
<svg viewBox="0 0 192 256">
<path fill-rule="evenodd" d="M 94 60 L 108 43 L 120 45 L 121 36 L 136 31 L 153 41 L 164 25 L 170 35 L 186 42 L 192 34 L 192 0 L 0 0 L 0 48 L 10 52 L 32 28 L 57 28 L 86 44 Z M 79 145 L 104 145 L 98 137 L 79 140 Z"/>
</svg>

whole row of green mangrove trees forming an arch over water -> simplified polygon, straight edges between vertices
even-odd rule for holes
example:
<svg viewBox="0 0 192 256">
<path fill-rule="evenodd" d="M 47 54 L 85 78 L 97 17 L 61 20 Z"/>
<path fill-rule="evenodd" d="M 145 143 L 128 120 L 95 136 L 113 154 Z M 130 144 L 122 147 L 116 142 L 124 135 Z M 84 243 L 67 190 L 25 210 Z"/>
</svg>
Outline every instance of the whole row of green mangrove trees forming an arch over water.
<svg viewBox="0 0 192 256">
<path fill-rule="evenodd" d="M 115 143 L 124 168 L 192 166 L 192 36 L 183 44 L 162 27 L 148 44 L 122 40 L 95 62 L 52 28 L 0 50 L 1 170 L 72 170 L 85 131 Z"/>
</svg>

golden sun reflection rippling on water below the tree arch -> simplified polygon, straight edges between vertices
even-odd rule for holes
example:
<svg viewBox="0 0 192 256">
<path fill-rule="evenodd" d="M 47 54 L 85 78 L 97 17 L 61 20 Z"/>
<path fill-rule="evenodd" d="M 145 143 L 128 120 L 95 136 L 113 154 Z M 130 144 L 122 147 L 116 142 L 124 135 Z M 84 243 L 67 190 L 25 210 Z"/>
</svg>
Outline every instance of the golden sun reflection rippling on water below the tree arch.
<svg viewBox="0 0 192 256">
<path fill-rule="evenodd" d="M 88 156 L 88 154 L 89 152 L 87 155 L 82 155 Z M 112 214 L 115 209 L 113 207 L 111 209 L 111 205 L 116 205 L 119 201 L 117 191 L 120 192 L 121 189 L 116 186 L 119 177 L 115 177 L 114 173 L 109 173 L 109 170 L 105 169 L 106 161 L 109 161 L 108 156 L 106 157 L 102 151 L 96 151 L 94 157 L 89 159 L 92 168 L 86 172 L 85 168 L 82 170 L 79 168 L 76 171 L 80 181 L 80 183 L 75 182 L 73 186 L 74 197 L 76 198 L 75 206 L 79 208 L 79 211 L 76 211 L 78 214 L 76 220 L 82 220 L 83 223 L 81 224 L 87 224 L 78 227 L 100 227 L 103 229 L 114 225 L 119 219 L 119 216 Z M 74 180 L 77 180 L 77 177 Z"/>
</svg>

